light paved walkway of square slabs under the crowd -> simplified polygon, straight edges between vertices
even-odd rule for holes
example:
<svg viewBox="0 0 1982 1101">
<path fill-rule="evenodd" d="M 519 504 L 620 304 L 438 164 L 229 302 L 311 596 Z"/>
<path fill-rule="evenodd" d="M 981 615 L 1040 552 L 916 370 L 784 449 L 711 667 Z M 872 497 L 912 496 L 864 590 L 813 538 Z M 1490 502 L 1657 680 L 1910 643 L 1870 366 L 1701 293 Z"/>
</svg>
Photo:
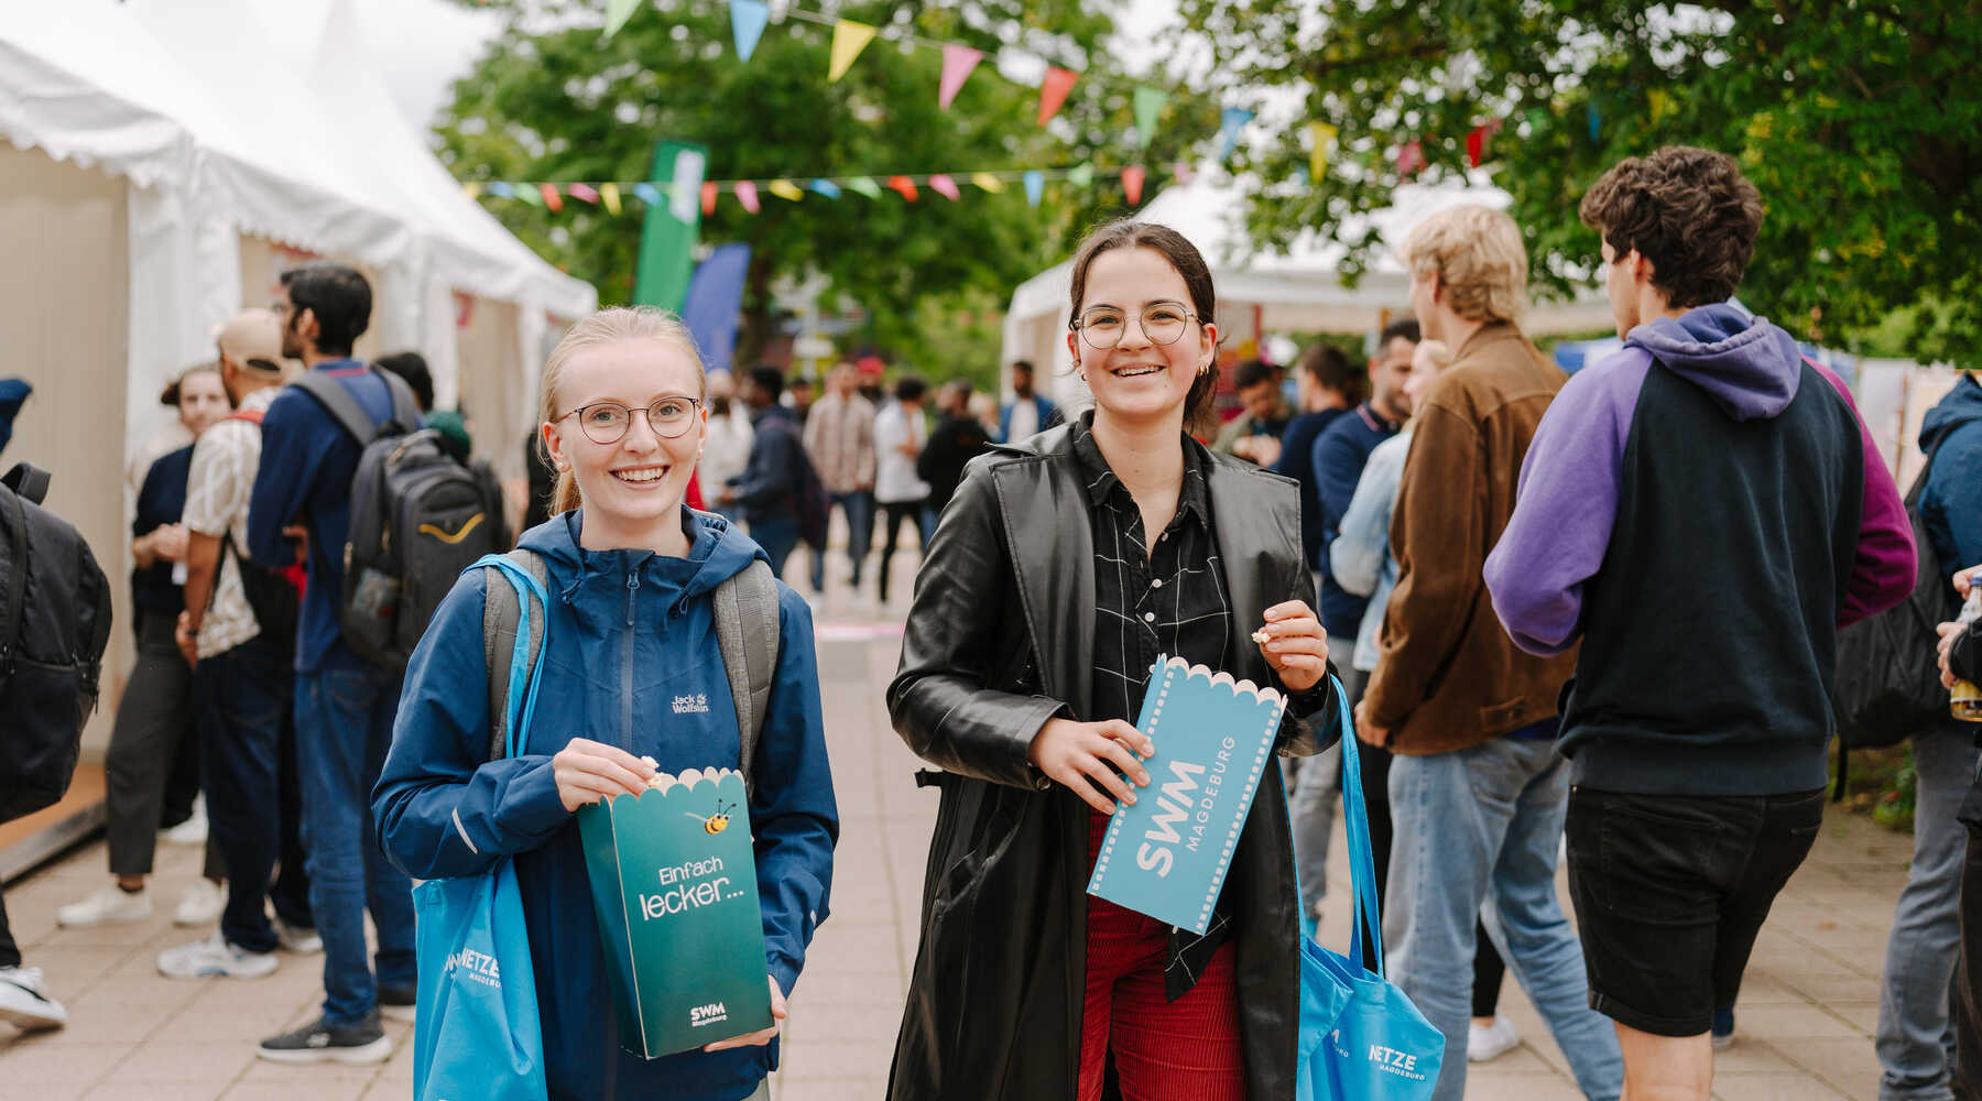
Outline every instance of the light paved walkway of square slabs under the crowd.
<svg viewBox="0 0 1982 1101">
<path fill-rule="evenodd" d="M 902 572 L 908 576 L 906 568 Z M 886 1085 L 936 818 L 936 794 L 916 788 L 918 764 L 882 711 L 882 689 L 898 655 L 896 634 L 886 622 L 836 600 L 821 618 L 819 661 L 842 836 L 832 917 L 819 929 L 791 1002 L 783 1073 L 775 1085 L 779 1101 L 874 1101 Z M 1342 830 L 1336 838 L 1340 848 Z M 1831 816 L 1756 947 L 1740 998 L 1740 1036 L 1718 1061 L 1718 1097 L 1875 1097 L 1879 1069 L 1871 1030 L 1879 962 L 1909 851 L 1909 838 L 1863 816 Z M 1332 897 L 1348 897 L 1344 863 L 1340 853 L 1330 863 Z M 0 1097 L 406 1097 L 412 1050 L 404 1024 L 386 1024 L 400 1046 L 383 1067 L 285 1067 L 254 1057 L 258 1038 L 315 1014 L 321 968 L 313 958 L 285 956 L 281 970 L 262 980 L 172 982 L 157 974 L 153 960 L 161 949 L 204 933 L 170 925 L 170 907 L 194 875 L 198 850 L 161 846 L 153 887 L 159 915 L 87 931 L 57 929 L 54 915 L 57 905 L 105 881 L 101 844 L 8 887 L 6 905 L 28 962 L 48 970 L 71 1024 L 18 1042 L 10 1042 L 10 1026 L 0 1024 Z M 1324 939 L 1346 945 L 1346 917 L 1330 917 Z M 1508 982 L 1500 1004 L 1526 1044 L 1475 1067 L 1467 1095 L 1483 1101 L 1578 1097 L 1562 1053 L 1516 984 Z"/>
</svg>

